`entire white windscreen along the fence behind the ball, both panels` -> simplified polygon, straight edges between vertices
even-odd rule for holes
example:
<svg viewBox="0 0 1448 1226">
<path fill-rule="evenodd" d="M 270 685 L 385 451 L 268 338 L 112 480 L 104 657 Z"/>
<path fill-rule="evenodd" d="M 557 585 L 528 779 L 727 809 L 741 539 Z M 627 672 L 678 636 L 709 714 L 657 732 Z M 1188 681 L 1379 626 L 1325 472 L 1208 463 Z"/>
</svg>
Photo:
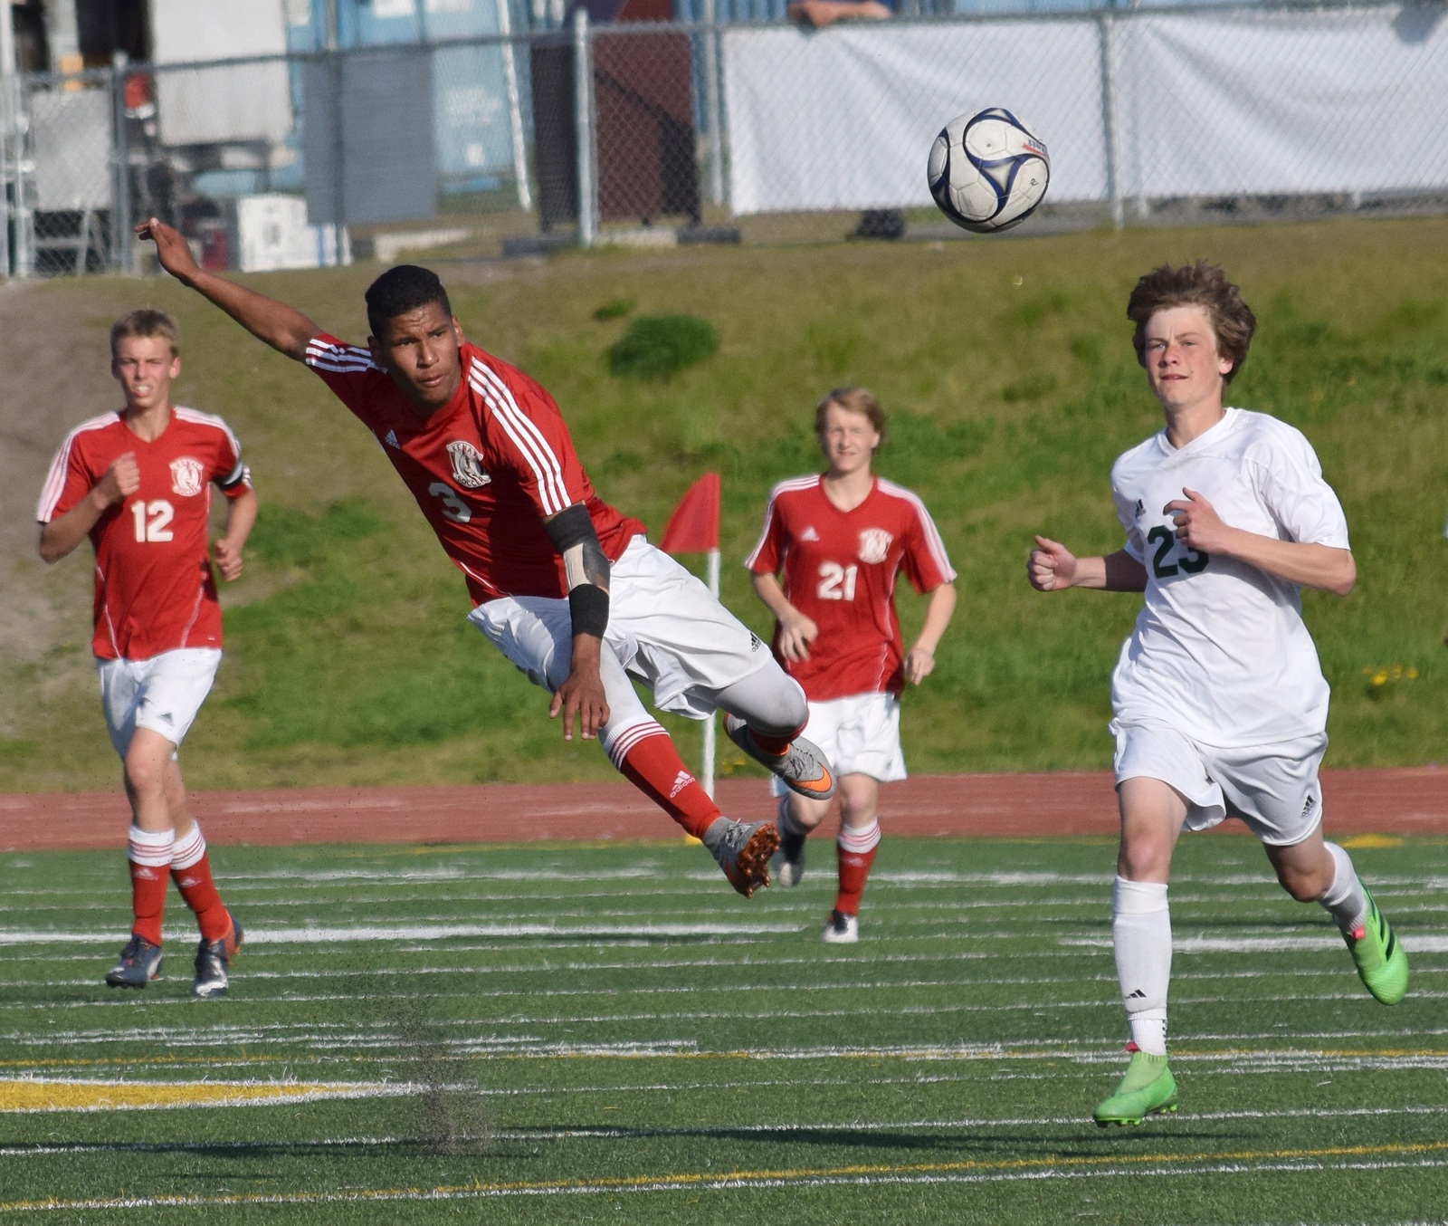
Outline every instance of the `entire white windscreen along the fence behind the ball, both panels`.
<svg viewBox="0 0 1448 1226">
<path fill-rule="evenodd" d="M 986 106 L 1035 125 L 1053 200 L 1105 200 L 1108 61 L 1118 196 L 1448 187 L 1441 10 L 727 30 L 730 201 L 927 206 L 931 141 Z"/>
</svg>

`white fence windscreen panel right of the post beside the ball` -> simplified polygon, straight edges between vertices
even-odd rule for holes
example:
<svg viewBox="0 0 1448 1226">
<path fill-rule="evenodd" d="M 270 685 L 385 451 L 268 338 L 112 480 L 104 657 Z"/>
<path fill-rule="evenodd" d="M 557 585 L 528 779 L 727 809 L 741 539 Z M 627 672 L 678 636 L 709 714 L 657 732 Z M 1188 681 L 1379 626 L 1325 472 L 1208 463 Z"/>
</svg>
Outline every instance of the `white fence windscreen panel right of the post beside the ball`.
<svg viewBox="0 0 1448 1226">
<path fill-rule="evenodd" d="M 1448 184 L 1448 22 L 1428 7 L 1116 23 L 1122 194 Z"/>
</svg>

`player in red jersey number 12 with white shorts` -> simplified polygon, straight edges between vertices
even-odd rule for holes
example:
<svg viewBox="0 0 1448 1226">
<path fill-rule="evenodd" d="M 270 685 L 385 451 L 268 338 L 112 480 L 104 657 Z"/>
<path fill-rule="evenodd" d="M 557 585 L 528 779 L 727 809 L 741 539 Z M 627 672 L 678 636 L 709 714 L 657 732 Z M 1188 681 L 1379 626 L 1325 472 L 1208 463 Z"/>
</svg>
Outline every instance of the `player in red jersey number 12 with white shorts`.
<svg viewBox="0 0 1448 1226">
<path fill-rule="evenodd" d="M 110 368 L 126 407 L 67 435 L 36 519 L 46 562 L 87 536 L 96 549 L 91 649 L 110 743 L 125 762 L 135 910 L 130 941 L 106 983 L 143 988 L 161 974 L 169 875 L 201 929 L 191 994 L 214 997 L 226 996 L 242 926 L 211 881 L 177 751 L 222 662 L 222 607 L 207 558 L 211 485 L 227 499 L 214 546 L 224 580 L 242 572 L 256 494 L 226 422 L 171 403 L 178 338 L 175 320 L 159 310 L 132 312 L 110 329 Z"/>
</svg>

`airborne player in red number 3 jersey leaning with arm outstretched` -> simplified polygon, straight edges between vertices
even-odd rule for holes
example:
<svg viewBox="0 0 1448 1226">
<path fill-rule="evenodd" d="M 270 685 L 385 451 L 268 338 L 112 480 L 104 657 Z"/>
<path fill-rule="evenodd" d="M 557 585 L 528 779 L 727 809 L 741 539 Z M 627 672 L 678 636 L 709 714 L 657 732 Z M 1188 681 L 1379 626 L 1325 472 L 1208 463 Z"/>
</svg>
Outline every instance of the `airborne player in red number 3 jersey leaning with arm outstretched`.
<svg viewBox="0 0 1448 1226">
<path fill-rule="evenodd" d="M 702 839 L 744 897 L 769 884 L 770 822 L 724 817 L 630 677 L 668 712 L 724 710 L 730 735 L 805 796 L 834 793 L 799 733 L 804 693 L 708 588 L 598 499 L 553 399 L 462 338 L 426 268 L 400 265 L 366 291 L 368 348 L 300 312 L 203 272 L 174 229 L 139 228 L 162 267 L 272 348 L 306 362 L 372 430 L 447 556 L 468 580 L 469 620 L 553 693 L 549 714 L 595 733 L 613 764 Z"/>
</svg>

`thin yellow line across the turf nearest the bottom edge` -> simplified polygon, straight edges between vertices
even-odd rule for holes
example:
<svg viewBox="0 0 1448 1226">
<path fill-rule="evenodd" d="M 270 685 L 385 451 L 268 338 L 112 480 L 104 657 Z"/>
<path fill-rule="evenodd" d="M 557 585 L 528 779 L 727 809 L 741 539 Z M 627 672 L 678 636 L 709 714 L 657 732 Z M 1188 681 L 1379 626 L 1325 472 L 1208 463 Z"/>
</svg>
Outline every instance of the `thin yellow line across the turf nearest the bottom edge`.
<svg viewBox="0 0 1448 1226">
<path fill-rule="evenodd" d="M 353 1188 L 336 1193 L 232 1193 L 224 1196 L 152 1196 L 96 1200 L 13 1200 L 0 1203 L 0 1213 L 35 1209 L 142 1209 L 200 1207 L 227 1204 L 319 1204 L 334 1201 L 446 1200 L 472 1196 L 539 1194 L 565 1191 L 630 1191 L 643 1188 L 696 1187 L 712 1184 L 798 1183 L 807 1180 L 888 1178 L 899 1175 L 990 1174 L 1008 1171 L 1070 1171 L 1092 1167 L 1160 1167 L 1196 1162 L 1290 1162 L 1321 1158 L 1386 1158 L 1441 1154 L 1448 1140 L 1416 1145 L 1341 1145 L 1319 1149 L 1245 1149 L 1225 1154 L 1102 1154 L 1080 1158 L 1012 1158 L 1001 1162 L 909 1162 L 905 1165 L 854 1165 L 785 1168 L 763 1171 L 688 1171 L 668 1175 L 624 1175 L 598 1180 L 550 1180 L 542 1183 L 453 1184 L 433 1188 Z"/>
</svg>

